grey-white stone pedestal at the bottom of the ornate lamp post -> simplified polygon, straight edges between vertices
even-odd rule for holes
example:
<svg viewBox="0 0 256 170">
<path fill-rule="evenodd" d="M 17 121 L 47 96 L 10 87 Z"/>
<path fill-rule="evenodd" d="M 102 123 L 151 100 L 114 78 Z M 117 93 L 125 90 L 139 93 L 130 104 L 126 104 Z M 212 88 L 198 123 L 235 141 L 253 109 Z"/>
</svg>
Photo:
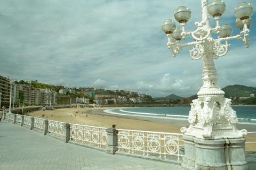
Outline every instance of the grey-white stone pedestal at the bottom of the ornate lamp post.
<svg viewBox="0 0 256 170">
<path fill-rule="evenodd" d="M 245 138 L 199 139 L 183 135 L 185 155 L 181 166 L 193 170 L 247 170 Z"/>
</svg>

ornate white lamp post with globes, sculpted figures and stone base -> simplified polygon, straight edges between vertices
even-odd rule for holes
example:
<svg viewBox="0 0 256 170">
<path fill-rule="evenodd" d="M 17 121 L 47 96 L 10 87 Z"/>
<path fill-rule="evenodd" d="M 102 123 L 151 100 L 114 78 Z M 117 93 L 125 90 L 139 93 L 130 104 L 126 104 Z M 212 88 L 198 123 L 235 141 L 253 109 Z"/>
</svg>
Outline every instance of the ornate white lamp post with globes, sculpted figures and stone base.
<svg viewBox="0 0 256 170">
<path fill-rule="evenodd" d="M 181 28 L 177 28 L 172 20 L 164 21 L 162 30 L 168 38 L 167 47 L 173 57 L 177 56 L 184 47 L 189 50 L 193 60 L 203 61 L 203 86 L 198 91 L 198 99 L 193 100 L 189 112 L 189 128 L 181 128 L 185 140 L 185 156 L 182 167 L 186 169 L 247 169 L 245 162 L 243 135 L 246 130 L 236 128 L 236 112 L 231 108 L 231 100 L 225 98 L 217 86 L 217 72 L 214 59 L 225 56 L 229 50 L 229 40 L 243 41 L 249 47 L 250 18 L 253 7 L 250 3 L 240 3 L 235 8 L 236 26 L 242 30 L 238 35 L 231 36 L 230 25 L 220 25 L 221 15 L 226 10 L 223 0 L 202 1 L 202 21 L 196 22 L 195 31 L 185 31 L 185 25 L 190 19 L 191 12 L 186 6 L 175 10 L 174 17 Z M 215 28 L 210 26 L 210 15 L 216 21 Z M 218 34 L 214 39 L 212 34 Z M 192 37 L 193 42 L 181 44 L 182 39 Z M 224 43 L 222 43 L 224 42 Z"/>
</svg>

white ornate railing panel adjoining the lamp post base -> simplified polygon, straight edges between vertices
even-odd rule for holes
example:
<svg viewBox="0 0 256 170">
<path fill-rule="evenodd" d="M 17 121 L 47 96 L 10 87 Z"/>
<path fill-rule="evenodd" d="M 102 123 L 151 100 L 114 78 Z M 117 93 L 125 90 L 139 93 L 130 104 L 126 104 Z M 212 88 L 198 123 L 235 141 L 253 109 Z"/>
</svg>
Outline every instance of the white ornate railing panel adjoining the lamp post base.
<svg viewBox="0 0 256 170">
<path fill-rule="evenodd" d="M 182 144 L 182 145 L 181 145 Z M 118 151 L 163 159 L 183 156 L 182 134 L 118 129 Z"/>
</svg>

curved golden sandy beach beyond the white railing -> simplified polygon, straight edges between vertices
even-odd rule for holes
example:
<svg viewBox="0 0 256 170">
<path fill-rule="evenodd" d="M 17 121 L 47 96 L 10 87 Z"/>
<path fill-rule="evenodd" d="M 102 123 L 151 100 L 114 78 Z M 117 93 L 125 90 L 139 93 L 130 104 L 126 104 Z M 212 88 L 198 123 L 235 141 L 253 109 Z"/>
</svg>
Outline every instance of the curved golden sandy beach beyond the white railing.
<svg viewBox="0 0 256 170">
<path fill-rule="evenodd" d="M 118 129 L 130 130 L 145 130 L 157 132 L 173 132 L 181 133 L 180 128 L 188 125 L 186 121 L 177 120 L 163 120 L 161 118 L 145 118 L 127 117 L 117 115 L 109 115 L 103 110 L 109 108 L 62 108 L 53 111 L 36 111 L 28 113 L 29 116 L 44 118 L 54 121 L 61 121 L 67 123 L 75 123 L 82 125 L 100 126 L 111 128 L 116 124 Z M 86 116 L 87 115 L 87 116 Z M 255 125 L 238 124 L 238 129 L 247 129 L 248 131 L 256 131 Z M 246 137 L 247 141 L 256 141 L 255 134 L 249 134 Z M 256 151 L 256 143 L 246 143 L 247 151 Z"/>
</svg>

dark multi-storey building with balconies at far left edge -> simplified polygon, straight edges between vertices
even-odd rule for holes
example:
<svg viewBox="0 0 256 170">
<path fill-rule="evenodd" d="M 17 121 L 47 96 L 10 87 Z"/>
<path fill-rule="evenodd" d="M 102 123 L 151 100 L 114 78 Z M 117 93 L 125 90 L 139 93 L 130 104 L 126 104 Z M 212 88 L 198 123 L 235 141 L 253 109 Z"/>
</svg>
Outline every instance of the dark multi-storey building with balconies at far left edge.
<svg viewBox="0 0 256 170">
<path fill-rule="evenodd" d="M 10 101 L 10 80 L 0 75 L 1 107 L 8 106 Z"/>
</svg>

